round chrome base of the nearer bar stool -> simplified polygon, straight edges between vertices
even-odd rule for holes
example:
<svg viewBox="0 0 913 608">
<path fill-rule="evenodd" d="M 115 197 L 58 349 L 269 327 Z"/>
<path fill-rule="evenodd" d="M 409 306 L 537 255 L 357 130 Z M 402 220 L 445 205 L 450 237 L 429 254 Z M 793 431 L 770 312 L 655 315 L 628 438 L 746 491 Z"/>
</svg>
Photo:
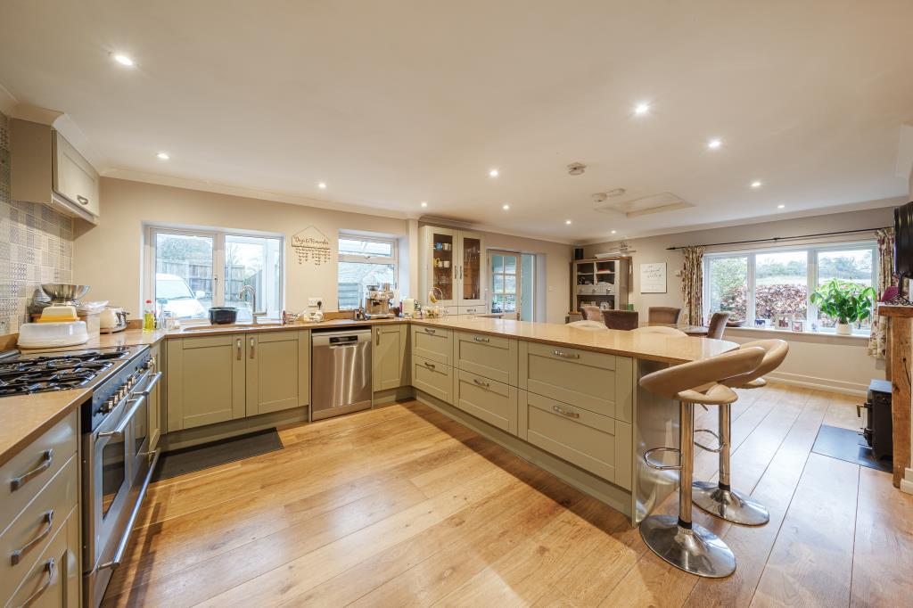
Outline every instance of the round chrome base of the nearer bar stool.
<svg viewBox="0 0 913 608">
<path fill-rule="evenodd" d="M 721 579 L 736 571 L 736 556 L 719 537 L 698 524 L 691 529 L 668 515 L 653 515 L 640 522 L 646 546 L 676 568 Z"/>
</svg>

